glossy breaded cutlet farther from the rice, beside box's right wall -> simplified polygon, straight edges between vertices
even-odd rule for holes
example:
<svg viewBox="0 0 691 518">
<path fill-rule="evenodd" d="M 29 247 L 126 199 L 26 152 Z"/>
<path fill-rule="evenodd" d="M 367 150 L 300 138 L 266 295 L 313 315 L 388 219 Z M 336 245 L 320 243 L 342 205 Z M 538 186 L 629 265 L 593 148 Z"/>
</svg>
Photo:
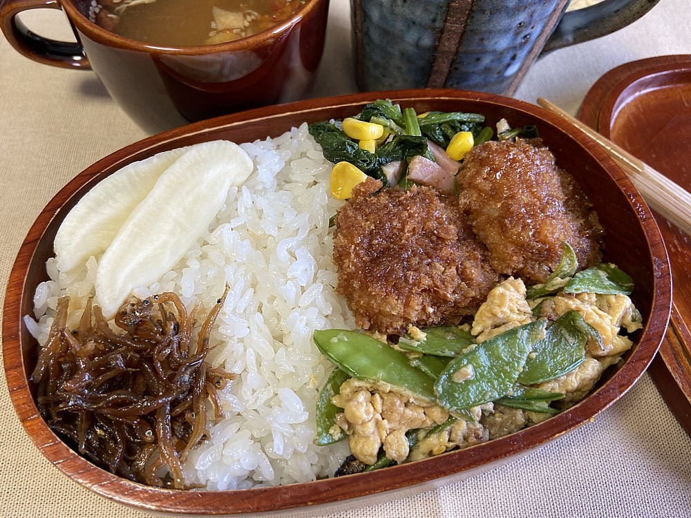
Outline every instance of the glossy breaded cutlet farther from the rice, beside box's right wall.
<svg viewBox="0 0 691 518">
<path fill-rule="evenodd" d="M 499 274 L 544 282 L 559 264 L 563 241 L 581 269 L 600 262 L 597 215 L 547 148 L 486 142 L 468 152 L 456 178 L 462 207 Z"/>
</svg>

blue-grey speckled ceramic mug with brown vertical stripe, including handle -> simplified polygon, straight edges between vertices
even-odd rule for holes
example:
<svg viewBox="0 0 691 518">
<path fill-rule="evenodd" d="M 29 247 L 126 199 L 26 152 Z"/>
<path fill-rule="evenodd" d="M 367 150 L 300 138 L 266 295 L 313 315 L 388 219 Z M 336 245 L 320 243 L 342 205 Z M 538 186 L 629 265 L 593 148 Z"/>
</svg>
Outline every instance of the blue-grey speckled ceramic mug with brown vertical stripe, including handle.
<svg viewBox="0 0 691 518">
<path fill-rule="evenodd" d="M 361 90 L 460 88 L 512 95 L 542 52 L 632 23 L 659 0 L 351 0 Z"/>
</svg>

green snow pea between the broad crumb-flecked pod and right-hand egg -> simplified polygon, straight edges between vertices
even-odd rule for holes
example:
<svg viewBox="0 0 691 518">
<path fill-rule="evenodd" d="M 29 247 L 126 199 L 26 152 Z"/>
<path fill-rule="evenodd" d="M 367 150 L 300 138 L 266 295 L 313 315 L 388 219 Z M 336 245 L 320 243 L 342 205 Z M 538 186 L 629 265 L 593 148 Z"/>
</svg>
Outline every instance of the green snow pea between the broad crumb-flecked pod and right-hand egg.
<svg viewBox="0 0 691 518">
<path fill-rule="evenodd" d="M 593 333 L 600 334 L 583 320 L 578 311 L 568 311 L 557 318 L 528 356 L 518 381 L 535 385 L 563 376 L 585 361 L 585 343 Z"/>
</svg>

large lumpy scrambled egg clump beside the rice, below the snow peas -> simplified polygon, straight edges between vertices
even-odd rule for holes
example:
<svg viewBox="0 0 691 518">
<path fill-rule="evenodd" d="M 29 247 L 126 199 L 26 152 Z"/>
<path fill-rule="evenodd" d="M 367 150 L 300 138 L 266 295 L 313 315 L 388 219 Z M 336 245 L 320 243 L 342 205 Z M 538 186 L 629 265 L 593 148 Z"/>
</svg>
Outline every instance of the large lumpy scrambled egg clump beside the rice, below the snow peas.
<svg viewBox="0 0 691 518">
<path fill-rule="evenodd" d="M 442 407 L 413 394 L 395 392 L 393 387 L 381 382 L 350 378 L 332 401 L 343 408 L 350 451 L 366 464 L 377 461 L 382 445 L 389 459 L 406 460 L 410 452 L 408 430 L 430 428 L 448 419 L 448 412 Z"/>
</svg>

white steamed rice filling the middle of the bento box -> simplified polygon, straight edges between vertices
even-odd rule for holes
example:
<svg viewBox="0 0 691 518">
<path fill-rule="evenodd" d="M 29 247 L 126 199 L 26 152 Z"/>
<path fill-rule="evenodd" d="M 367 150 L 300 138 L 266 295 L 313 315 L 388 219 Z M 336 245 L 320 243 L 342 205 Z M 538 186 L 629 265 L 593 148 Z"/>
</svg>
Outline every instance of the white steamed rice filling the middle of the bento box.
<svg viewBox="0 0 691 518">
<path fill-rule="evenodd" d="M 209 361 L 238 376 L 221 394 L 226 419 L 209 423 L 211 440 L 184 466 L 187 482 L 211 490 L 314 480 L 332 475 L 348 454 L 347 441 L 313 443 L 316 396 L 331 365 L 312 332 L 354 327 L 334 292 L 328 221 L 341 202 L 328 195 L 331 165 L 307 124 L 242 147 L 254 161 L 252 176 L 231 189 L 209 233 L 176 269 L 135 290 L 140 298 L 175 291 L 188 309 L 200 303 L 205 314 L 229 286 Z M 96 266 L 92 257 L 75 282 L 48 261 L 51 280 L 34 300 L 37 322 L 25 318 L 40 343 L 60 296 L 70 295 L 70 322 L 76 321 Z"/>
</svg>

